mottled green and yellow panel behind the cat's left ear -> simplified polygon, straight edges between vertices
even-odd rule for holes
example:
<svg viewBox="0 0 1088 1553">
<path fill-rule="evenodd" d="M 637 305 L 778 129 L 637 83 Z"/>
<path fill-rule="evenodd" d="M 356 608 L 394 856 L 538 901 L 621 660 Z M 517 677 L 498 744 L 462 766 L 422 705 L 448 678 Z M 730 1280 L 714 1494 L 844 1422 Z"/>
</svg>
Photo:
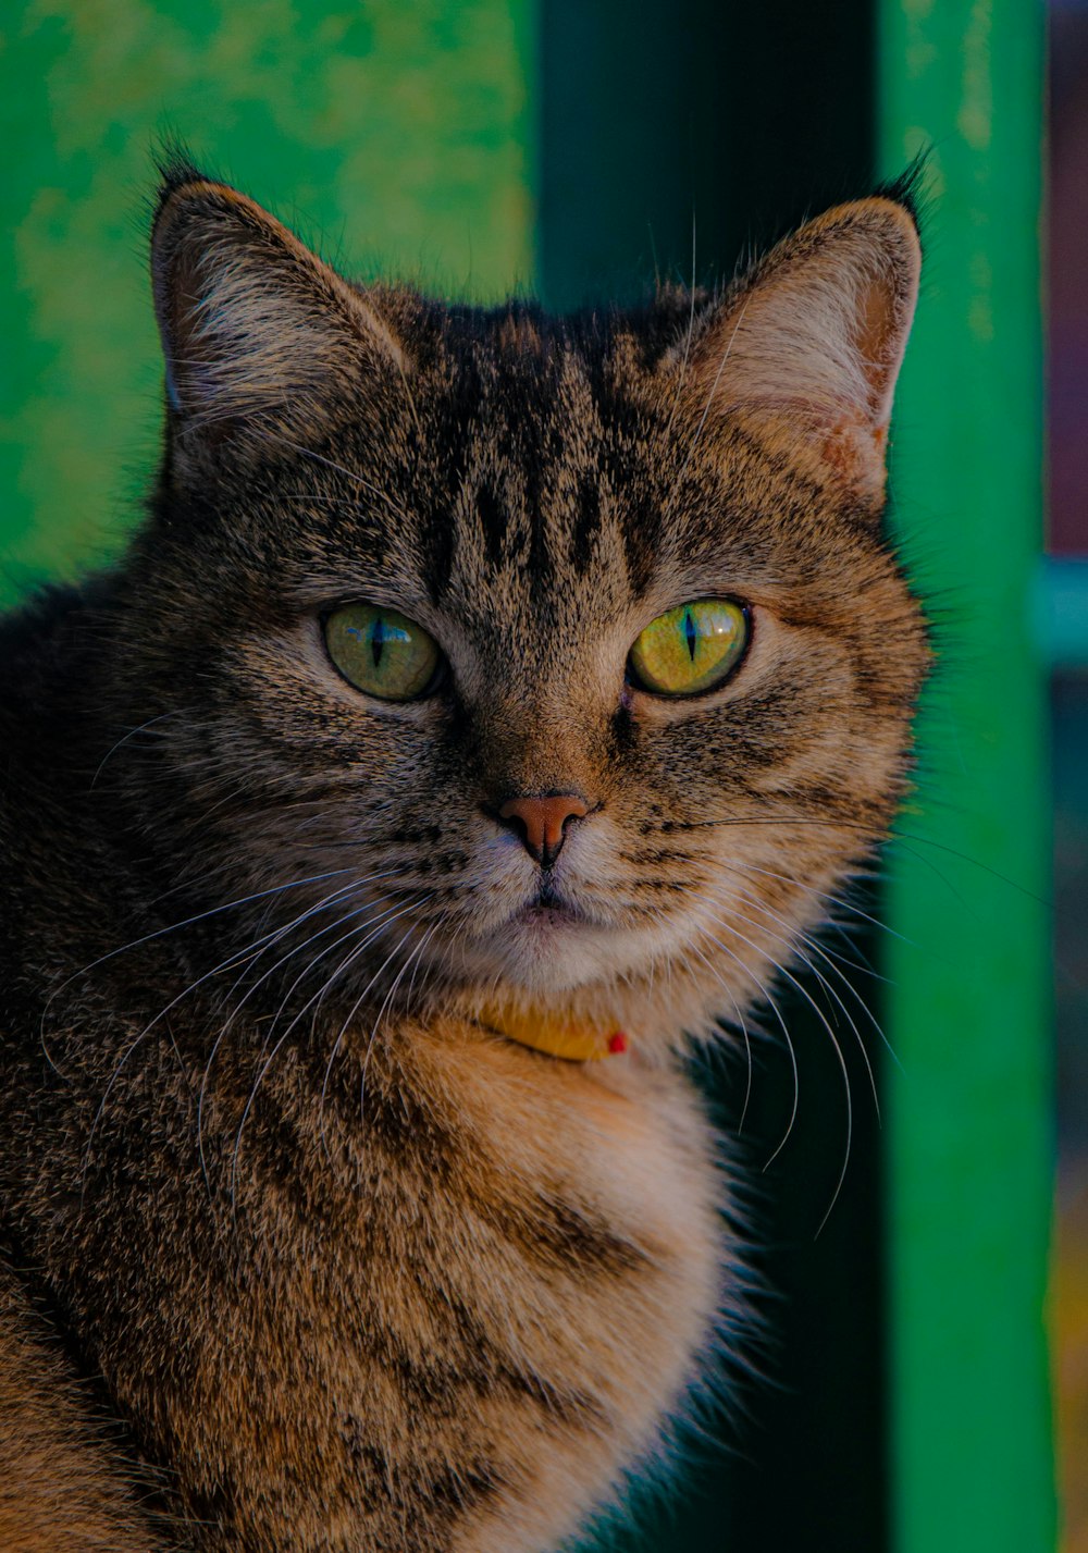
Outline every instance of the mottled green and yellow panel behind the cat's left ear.
<svg viewBox="0 0 1088 1553">
<path fill-rule="evenodd" d="M 534 0 L 53 0 L 0 59 L 0 604 L 115 550 L 155 457 L 141 208 L 182 135 L 352 273 L 532 281 Z"/>
</svg>

